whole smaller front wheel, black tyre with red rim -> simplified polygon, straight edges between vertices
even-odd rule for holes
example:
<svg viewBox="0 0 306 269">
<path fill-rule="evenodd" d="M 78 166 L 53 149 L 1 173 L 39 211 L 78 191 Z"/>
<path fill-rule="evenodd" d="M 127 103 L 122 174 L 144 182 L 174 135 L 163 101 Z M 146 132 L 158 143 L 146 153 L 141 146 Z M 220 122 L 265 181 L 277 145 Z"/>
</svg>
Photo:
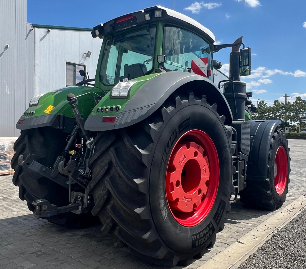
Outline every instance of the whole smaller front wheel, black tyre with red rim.
<svg viewBox="0 0 306 269">
<path fill-rule="evenodd" d="M 249 160 L 250 161 L 250 160 Z M 248 180 L 241 191 L 240 201 L 246 206 L 260 206 L 275 210 L 282 206 L 288 193 L 290 157 L 288 140 L 276 129 L 271 138 L 267 163 L 268 177 L 265 181 Z"/>
</svg>

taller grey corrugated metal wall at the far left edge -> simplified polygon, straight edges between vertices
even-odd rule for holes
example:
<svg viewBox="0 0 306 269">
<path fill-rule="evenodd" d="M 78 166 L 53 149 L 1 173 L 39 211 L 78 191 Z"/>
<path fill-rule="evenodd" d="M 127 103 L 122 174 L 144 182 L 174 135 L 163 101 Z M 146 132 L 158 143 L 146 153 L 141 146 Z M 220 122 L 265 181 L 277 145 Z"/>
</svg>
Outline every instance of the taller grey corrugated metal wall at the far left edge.
<svg viewBox="0 0 306 269">
<path fill-rule="evenodd" d="M 20 134 L 15 125 L 28 105 L 26 10 L 26 0 L 0 1 L 0 136 Z"/>
</svg>

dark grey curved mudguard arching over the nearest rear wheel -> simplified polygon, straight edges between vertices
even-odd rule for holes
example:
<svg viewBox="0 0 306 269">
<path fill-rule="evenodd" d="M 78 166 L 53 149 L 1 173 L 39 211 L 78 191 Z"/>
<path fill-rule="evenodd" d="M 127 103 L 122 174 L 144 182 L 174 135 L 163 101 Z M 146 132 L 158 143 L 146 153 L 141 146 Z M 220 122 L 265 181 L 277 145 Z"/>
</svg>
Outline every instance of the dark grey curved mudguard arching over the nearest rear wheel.
<svg viewBox="0 0 306 269">
<path fill-rule="evenodd" d="M 144 78 L 145 77 L 133 79 L 139 82 L 134 84 L 132 88 L 138 83 L 142 84 L 129 99 L 111 98 L 110 93 L 108 93 L 103 100 L 97 104 L 96 108 L 117 106 L 117 103 L 124 102 L 120 104 L 121 110 L 117 113 L 99 113 L 94 109 L 85 122 L 85 129 L 91 131 L 106 131 L 124 128 L 138 123 L 155 112 L 165 100 L 179 88 L 184 88 L 186 91 L 188 89 L 202 89 L 203 94 L 207 96 L 207 102 L 218 104 L 217 111 L 220 115 L 226 117 L 225 123 L 230 124 L 233 120 L 232 112 L 224 95 L 221 93 L 220 89 L 207 78 L 187 72 L 165 72 L 155 74 L 150 78 Z M 103 122 L 103 116 L 116 117 L 116 120 L 114 123 Z"/>
</svg>

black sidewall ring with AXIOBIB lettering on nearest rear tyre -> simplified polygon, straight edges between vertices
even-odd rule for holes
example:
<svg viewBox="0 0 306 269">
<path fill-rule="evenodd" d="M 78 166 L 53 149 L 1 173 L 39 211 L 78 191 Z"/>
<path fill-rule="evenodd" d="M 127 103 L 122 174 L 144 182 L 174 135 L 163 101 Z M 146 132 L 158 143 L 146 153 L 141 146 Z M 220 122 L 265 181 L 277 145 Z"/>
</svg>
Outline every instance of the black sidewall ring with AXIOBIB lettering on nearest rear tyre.
<svg viewBox="0 0 306 269">
<path fill-rule="evenodd" d="M 200 103 L 200 102 L 199 102 Z M 151 165 L 149 193 L 153 222 L 164 243 L 171 249 L 188 253 L 206 247 L 223 228 L 223 217 L 230 196 L 232 157 L 229 140 L 220 116 L 208 105 L 187 105 L 164 119 Z M 213 140 L 219 158 L 220 180 L 215 203 L 198 225 L 185 227 L 172 216 L 165 194 L 167 163 L 177 140 L 192 129 L 206 132 Z"/>
</svg>

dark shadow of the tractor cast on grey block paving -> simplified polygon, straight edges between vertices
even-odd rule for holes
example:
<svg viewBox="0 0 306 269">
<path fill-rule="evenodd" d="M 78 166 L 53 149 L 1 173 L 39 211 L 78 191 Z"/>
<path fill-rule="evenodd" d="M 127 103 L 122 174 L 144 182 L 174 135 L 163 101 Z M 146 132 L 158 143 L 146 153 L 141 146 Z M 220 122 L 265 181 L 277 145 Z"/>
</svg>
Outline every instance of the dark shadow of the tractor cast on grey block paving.
<svg viewBox="0 0 306 269">
<path fill-rule="evenodd" d="M 270 213 L 259 208 L 246 208 L 239 200 L 231 206 L 231 212 L 225 216 L 224 230 L 231 230 L 232 225 L 250 225 L 251 229 L 258 225 L 257 218 L 262 222 L 262 216 Z M 114 247 L 114 238 L 102 236 L 100 228 L 100 225 L 85 229 L 65 228 L 47 220 L 36 219 L 32 214 L 0 219 L 0 268 L 6 268 L 2 262 L 7 259 L 15 263 L 15 267 L 31 263 L 39 268 L 170 268 L 141 260 L 130 254 L 126 247 Z M 213 249 L 208 249 L 204 256 L 212 255 Z M 184 265 L 188 266 L 195 261 L 204 263 L 192 259 Z M 174 268 L 180 269 L 183 266 Z"/>
</svg>

